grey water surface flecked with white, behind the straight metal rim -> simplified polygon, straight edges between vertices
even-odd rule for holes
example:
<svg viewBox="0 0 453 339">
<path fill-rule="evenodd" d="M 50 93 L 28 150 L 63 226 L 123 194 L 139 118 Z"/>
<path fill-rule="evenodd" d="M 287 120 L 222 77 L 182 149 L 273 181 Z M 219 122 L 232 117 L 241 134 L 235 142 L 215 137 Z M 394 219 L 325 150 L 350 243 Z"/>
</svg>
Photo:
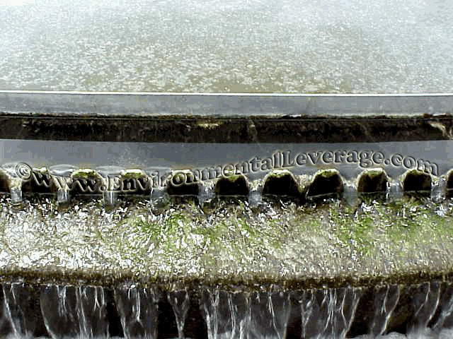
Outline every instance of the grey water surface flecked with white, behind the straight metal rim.
<svg viewBox="0 0 453 339">
<path fill-rule="evenodd" d="M 0 89 L 451 93 L 452 0 L 1 0 Z"/>
</svg>

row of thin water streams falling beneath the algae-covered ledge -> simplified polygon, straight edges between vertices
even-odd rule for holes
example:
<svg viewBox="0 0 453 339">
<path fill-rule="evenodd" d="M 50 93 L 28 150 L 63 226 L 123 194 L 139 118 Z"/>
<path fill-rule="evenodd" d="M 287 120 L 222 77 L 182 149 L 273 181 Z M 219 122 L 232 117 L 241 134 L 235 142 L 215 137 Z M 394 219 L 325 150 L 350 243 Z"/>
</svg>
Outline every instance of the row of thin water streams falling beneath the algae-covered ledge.
<svg viewBox="0 0 453 339">
<path fill-rule="evenodd" d="M 383 285 L 374 288 L 370 299 L 364 299 L 366 291 L 362 287 L 341 287 L 238 292 L 213 287 L 200 290 L 197 297 L 190 297 L 186 290 L 168 291 L 165 299 L 174 311 L 179 338 L 185 338 L 184 324 L 188 320 L 206 326 L 204 338 L 208 339 L 282 339 L 294 335 L 302 339 L 428 339 L 453 335 L 452 284 L 433 281 L 413 286 Z M 40 321 L 52 339 L 110 336 L 108 328 L 113 318 L 112 311 L 106 311 L 108 298 L 103 287 L 42 285 L 37 291 L 23 283 L 4 283 L 3 295 L 0 329 L 7 338 L 34 338 Z M 36 295 L 39 300 L 34 299 Z M 158 304 L 164 302 L 162 298 L 162 292 L 153 288 L 115 288 L 113 299 L 121 319 L 120 336 L 168 338 L 158 333 L 162 321 Z M 190 298 L 200 307 L 202 320 L 187 319 Z M 37 303 L 40 309 L 35 309 Z M 406 317 L 406 334 L 391 331 L 401 317 Z M 360 328 L 364 321 L 365 330 Z M 367 334 L 350 336 L 357 331 Z"/>
</svg>

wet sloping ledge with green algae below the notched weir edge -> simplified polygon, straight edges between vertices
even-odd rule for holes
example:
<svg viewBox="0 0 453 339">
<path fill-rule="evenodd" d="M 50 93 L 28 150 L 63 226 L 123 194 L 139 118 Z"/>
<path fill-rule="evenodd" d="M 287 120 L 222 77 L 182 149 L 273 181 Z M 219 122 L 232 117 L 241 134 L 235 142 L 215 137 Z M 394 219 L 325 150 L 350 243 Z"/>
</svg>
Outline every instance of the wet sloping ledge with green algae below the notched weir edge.
<svg viewBox="0 0 453 339">
<path fill-rule="evenodd" d="M 364 283 L 449 275 L 453 203 L 404 198 L 355 206 L 231 198 L 201 208 L 175 201 L 156 210 L 137 198 L 57 206 L 54 197 L 0 201 L 4 279 L 108 283 Z"/>
</svg>

